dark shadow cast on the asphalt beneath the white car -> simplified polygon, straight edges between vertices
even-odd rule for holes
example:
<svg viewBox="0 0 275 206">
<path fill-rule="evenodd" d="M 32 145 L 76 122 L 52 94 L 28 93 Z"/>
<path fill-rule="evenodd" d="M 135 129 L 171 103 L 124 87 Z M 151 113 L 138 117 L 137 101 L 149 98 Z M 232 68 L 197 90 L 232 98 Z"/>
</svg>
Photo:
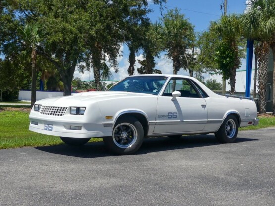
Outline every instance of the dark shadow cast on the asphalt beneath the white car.
<svg viewBox="0 0 275 206">
<path fill-rule="evenodd" d="M 233 144 L 240 142 L 258 141 L 258 139 L 251 138 L 237 138 Z M 141 148 L 132 155 L 141 155 L 151 152 L 206 147 L 212 145 L 220 145 L 214 135 L 191 135 L 183 136 L 181 138 L 156 137 L 146 138 L 143 141 Z M 97 158 L 106 156 L 115 156 L 111 154 L 105 147 L 103 142 L 87 143 L 83 146 L 69 146 L 66 144 L 36 147 L 36 149 L 66 156 L 80 157 L 80 158 Z"/>
</svg>

